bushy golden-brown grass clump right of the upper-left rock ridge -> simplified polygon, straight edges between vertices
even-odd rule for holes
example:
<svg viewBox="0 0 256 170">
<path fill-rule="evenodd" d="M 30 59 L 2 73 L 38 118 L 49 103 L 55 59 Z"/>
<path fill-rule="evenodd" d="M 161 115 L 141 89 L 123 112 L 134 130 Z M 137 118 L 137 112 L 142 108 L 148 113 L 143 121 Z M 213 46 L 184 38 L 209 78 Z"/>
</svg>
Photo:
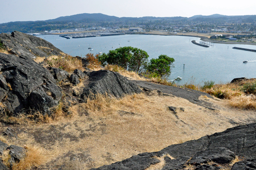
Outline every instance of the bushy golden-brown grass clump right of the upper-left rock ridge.
<svg viewBox="0 0 256 170">
<path fill-rule="evenodd" d="M 67 72 L 73 72 L 75 69 L 84 70 L 81 60 L 67 54 L 57 58 L 47 58 L 47 63 L 50 67 L 60 68 Z"/>
</svg>

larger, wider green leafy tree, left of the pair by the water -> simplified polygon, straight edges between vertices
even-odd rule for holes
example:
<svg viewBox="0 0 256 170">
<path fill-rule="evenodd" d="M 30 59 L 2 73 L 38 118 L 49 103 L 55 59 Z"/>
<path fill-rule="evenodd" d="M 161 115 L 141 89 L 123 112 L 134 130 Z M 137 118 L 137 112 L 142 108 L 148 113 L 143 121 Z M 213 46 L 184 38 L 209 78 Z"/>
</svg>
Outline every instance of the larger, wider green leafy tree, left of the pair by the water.
<svg viewBox="0 0 256 170">
<path fill-rule="evenodd" d="M 114 64 L 134 72 L 141 72 L 148 62 L 148 53 L 131 46 L 120 47 L 98 57 L 105 64 Z"/>
</svg>

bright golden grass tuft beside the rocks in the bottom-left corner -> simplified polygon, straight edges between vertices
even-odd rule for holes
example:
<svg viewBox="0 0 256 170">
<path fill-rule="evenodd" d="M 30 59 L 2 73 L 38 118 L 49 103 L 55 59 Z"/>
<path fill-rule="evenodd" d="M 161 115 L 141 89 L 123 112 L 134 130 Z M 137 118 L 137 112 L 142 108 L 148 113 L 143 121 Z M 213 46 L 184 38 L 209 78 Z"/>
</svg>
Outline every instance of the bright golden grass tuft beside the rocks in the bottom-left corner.
<svg viewBox="0 0 256 170">
<path fill-rule="evenodd" d="M 26 146 L 25 149 L 25 158 L 15 163 L 12 170 L 31 170 L 32 167 L 39 167 L 47 161 L 46 151 L 42 147 L 29 145 Z"/>
</svg>

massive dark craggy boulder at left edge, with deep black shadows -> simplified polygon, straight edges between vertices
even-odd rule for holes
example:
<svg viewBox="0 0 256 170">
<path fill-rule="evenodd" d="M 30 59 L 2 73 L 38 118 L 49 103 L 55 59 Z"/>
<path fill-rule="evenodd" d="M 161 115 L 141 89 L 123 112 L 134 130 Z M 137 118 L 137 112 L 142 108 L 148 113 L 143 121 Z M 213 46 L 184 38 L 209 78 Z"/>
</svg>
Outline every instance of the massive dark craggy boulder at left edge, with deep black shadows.
<svg viewBox="0 0 256 170">
<path fill-rule="evenodd" d="M 61 89 L 52 74 L 29 56 L 0 53 L 0 71 L 3 76 L 0 86 L 6 87 L 6 82 L 10 84 L 7 97 L 1 101 L 11 115 L 28 109 L 48 113 L 49 108 L 61 100 Z"/>
</svg>

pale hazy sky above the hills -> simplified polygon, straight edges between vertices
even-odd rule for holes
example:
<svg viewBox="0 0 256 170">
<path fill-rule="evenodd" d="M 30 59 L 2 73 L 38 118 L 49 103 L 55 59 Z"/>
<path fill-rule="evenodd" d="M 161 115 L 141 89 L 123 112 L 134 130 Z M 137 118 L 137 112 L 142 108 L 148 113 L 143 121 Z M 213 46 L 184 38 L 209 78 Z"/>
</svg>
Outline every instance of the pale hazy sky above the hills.
<svg viewBox="0 0 256 170">
<path fill-rule="evenodd" d="M 48 20 L 81 13 L 116 17 L 253 15 L 256 0 L 0 0 L 0 23 Z"/>
</svg>

